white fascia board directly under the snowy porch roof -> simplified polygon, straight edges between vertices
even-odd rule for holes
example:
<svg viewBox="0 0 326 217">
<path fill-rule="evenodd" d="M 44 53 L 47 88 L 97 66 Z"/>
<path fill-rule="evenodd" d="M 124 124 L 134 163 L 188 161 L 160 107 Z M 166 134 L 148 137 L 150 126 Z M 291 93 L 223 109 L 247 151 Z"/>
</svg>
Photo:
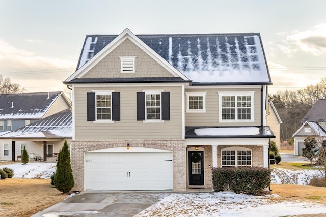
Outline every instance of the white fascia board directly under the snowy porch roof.
<svg viewBox="0 0 326 217">
<path fill-rule="evenodd" d="M 186 139 L 187 145 L 264 145 L 268 138 Z"/>
</svg>

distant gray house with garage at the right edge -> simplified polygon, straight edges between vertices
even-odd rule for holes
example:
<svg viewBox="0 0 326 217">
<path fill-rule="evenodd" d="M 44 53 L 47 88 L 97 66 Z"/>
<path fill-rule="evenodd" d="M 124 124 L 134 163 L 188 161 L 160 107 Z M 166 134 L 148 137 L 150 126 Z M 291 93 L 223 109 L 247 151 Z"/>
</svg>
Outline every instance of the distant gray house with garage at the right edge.
<svg viewBox="0 0 326 217">
<path fill-rule="evenodd" d="M 319 99 L 301 120 L 302 126 L 293 134 L 294 154 L 302 155 L 307 136 L 313 136 L 326 145 L 326 99 Z"/>
</svg>

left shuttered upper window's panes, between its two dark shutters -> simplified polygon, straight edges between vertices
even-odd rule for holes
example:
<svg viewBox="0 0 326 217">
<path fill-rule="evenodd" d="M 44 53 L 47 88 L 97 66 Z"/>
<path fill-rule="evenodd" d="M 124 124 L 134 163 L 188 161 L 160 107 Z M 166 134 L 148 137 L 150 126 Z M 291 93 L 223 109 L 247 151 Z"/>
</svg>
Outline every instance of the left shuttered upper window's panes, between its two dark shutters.
<svg viewBox="0 0 326 217">
<path fill-rule="evenodd" d="M 96 120 L 111 120 L 111 93 L 96 94 Z"/>
</svg>

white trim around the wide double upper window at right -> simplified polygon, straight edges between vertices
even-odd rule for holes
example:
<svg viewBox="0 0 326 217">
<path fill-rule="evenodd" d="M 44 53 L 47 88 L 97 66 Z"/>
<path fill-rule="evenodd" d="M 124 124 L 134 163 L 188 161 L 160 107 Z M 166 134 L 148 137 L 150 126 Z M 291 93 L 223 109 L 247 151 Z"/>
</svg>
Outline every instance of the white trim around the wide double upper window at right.
<svg viewBox="0 0 326 217">
<path fill-rule="evenodd" d="M 244 92 L 220 92 L 218 91 L 219 95 L 219 122 L 224 123 L 232 123 L 232 122 L 254 122 L 254 94 L 255 91 L 244 91 Z M 251 96 L 251 115 L 250 119 L 247 120 L 238 120 L 238 110 L 237 105 L 235 107 L 235 119 L 234 120 L 223 120 L 222 119 L 222 96 L 235 96 L 235 104 L 237 103 L 237 96 Z"/>
</svg>

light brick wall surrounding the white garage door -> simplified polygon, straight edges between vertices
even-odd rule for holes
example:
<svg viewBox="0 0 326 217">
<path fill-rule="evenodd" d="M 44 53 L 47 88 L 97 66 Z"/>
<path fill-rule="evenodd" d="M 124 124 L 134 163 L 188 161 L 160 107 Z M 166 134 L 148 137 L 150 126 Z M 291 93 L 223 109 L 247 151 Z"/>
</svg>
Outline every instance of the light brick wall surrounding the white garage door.
<svg viewBox="0 0 326 217">
<path fill-rule="evenodd" d="M 155 148 L 172 151 L 173 154 L 173 191 L 186 190 L 186 140 L 151 139 L 151 140 L 72 140 L 71 168 L 75 186 L 73 190 L 84 191 L 84 156 L 85 152 L 114 147 Z"/>
</svg>

